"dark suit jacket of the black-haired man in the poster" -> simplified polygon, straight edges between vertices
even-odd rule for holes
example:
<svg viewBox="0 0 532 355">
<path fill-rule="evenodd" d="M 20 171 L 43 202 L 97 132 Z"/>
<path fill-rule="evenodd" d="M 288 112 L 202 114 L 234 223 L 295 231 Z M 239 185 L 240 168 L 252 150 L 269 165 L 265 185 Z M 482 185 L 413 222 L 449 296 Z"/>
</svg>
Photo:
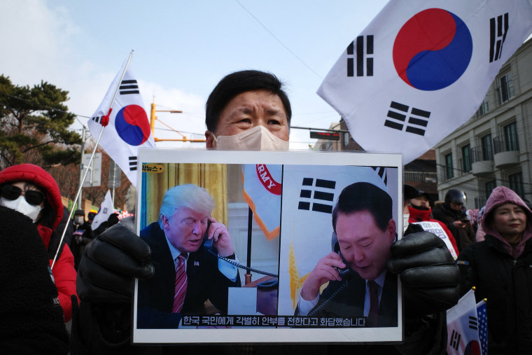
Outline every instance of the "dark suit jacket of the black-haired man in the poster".
<svg viewBox="0 0 532 355">
<path fill-rule="evenodd" d="M 356 272 L 351 272 L 351 279 L 342 288 L 343 284 L 344 281 L 330 281 L 321 293 L 318 304 L 311 310 L 311 314 L 321 317 L 363 317 L 365 279 Z M 312 313 L 314 311 L 316 312 Z M 296 315 L 298 312 L 296 309 Z M 396 327 L 397 324 L 397 275 L 386 272 L 379 303 L 378 326 Z"/>
</svg>

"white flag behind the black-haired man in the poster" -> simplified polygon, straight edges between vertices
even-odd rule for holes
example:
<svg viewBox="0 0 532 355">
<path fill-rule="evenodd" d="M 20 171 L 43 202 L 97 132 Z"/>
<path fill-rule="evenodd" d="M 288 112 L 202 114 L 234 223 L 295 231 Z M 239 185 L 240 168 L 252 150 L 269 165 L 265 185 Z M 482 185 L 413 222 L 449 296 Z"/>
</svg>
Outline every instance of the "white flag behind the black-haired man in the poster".
<svg viewBox="0 0 532 355">
<path fill-rule="evenodd" d="M 342 190 L 351 183 L 365 181 L 386 192 L 388 186 L 395 188 L 395 194 L 391 193 L 393 198 L 397 177 L 397 169 L 384 167 L 335 167 L 331 174 L 323 166 L 284 166 L 279 314 L 293 315 L 306 275 L 332 250 L 332 209 Z M 400 202 L 393 198 L 395 221 L 398 221 L 397 203 Z"/>
</svg>

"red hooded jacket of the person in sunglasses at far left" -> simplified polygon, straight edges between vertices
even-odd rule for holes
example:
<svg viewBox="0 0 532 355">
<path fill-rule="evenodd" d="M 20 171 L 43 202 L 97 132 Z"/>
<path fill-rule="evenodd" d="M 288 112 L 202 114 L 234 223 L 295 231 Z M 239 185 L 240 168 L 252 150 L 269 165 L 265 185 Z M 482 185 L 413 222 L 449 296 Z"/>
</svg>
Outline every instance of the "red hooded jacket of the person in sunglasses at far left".
<svg viewBox="0 0 532 355">
<path fill-rule="evenodd" d="M 45 172 L 43 168 L 32 164 L 13 165 L 0 172 L 0 186 L 17 181 L 34 183 L 41 188 L 46 195 L 45 203 L 48 203 L 53 211 L 55 218 L 52 222 L 52 228 L 43 225 L 41 220 L 36 222 L 38 233 L 48 251 L 51 266 L 62 234 L 55 232 L 55 228 L 57 228 L 57 225 L 59 225 L 63 217 L 63 204 L 59 186 L 57 186 L 52 176 Z M 70 296 L 76 295 L 76 270 L 74 270 L 72 253 L 69 246 L 64 242 L 59 250 L 52 274 L 55 279 L 55 286 L 59 292 L 59 304 L 64 312 L 64 320 L 69 321 L 72 316 Z"/>
</svg>

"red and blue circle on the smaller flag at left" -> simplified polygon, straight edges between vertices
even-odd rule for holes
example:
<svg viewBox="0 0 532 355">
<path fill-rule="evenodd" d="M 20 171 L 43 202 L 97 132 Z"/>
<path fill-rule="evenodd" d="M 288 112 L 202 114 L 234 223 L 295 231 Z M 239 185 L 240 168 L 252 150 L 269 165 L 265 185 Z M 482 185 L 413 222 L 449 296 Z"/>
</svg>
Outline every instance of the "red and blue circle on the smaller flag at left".
<svg viewBox="0 0 532 355">
<path fill-rule="evenodd" d="M 124 106 L 115 118 L 116 132 L 130 146 L 140 146 L 151 134 L 146 111 L 139 105 Z"/>
</svg>

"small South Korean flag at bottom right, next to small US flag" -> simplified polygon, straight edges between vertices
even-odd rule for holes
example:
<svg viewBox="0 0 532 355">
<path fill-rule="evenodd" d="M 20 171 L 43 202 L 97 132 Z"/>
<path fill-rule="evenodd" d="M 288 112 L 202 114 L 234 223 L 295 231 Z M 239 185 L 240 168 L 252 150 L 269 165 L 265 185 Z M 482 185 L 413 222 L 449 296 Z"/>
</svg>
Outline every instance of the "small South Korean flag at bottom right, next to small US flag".
<svg viewBox="0 0 532 355">
<path fill-rule="evenodd" d="M 481 355 L 475 291 L 465 293 L 447 310 L 447 354 Z"/>
</svg>

